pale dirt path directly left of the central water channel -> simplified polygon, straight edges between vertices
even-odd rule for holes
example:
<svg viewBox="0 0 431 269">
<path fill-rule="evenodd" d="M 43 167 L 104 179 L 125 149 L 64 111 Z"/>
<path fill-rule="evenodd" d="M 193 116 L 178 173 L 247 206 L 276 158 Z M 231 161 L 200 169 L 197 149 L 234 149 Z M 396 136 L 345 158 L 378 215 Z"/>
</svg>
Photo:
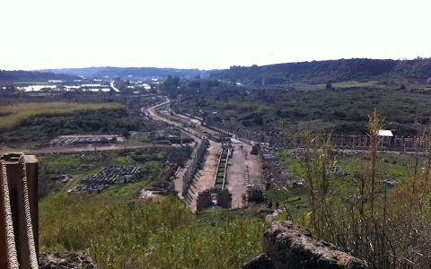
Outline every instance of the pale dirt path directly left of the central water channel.
<svg viewBox="0 0 431 269">
<path fill-rule="evenodd" d="M 195 178 L 193 178 L 193 183 L 189 187 L 187 199 L 189 200 L 190 209 L 193 212 L 196 211 L 196 198 L 198 197 L 198 193 L 214 186 L 214 177 L 216 176 L 218 163 L 218 157 L 216 156 L 217 151 L 218 148 L 214 144 L 209 146 L 204 169 L 198 170 Z"/>
</svg>

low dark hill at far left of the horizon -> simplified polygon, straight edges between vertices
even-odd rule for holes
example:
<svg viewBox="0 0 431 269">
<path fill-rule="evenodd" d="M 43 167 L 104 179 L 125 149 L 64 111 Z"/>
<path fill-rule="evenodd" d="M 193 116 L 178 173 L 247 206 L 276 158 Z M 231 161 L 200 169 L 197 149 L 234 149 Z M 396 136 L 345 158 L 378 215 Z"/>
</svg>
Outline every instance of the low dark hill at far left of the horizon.
<svg viewBox="0 0 431 269">
<path fill-rule="evenodd" d="M 73 80 L 76 78 L 75 75 L 70 74 L 0 70 L 0 82 L 46 82 L 48 80 Z"/>
</svg>

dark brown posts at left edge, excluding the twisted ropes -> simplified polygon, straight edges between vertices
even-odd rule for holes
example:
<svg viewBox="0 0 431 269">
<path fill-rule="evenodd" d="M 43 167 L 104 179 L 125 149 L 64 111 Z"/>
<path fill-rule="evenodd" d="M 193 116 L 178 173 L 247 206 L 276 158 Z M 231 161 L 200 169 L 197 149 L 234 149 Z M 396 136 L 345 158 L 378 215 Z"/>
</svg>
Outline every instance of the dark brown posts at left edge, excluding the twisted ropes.
<svg viewBox="0 0 431 269">
<path fill-rule="evenodd" d="M 22 166 L 19 155 L 7 154 L 0 157 L 6 163 L 7 181 L 11 212 L 13 219 L 13 233 L 16 252 L 20 268 L 31 268 L 29 239 L 27 238 L 27 224 L 24 211 L 24 195 L 22 184 Z M 33 230 L 36 254 L 39 254 L 39 211 L 38 211 L 38 159 L 33 155 L 24 157 L 27 172 L 27 187 L 31 209 L 31 226 Z M 2 179 L 0 174 L 0 179 Z M 8 267 L 6 254 L 6 241 L 4 231 L 4 204 L 3 196 L 0 197 L 0 268 Z"/>
</svg>

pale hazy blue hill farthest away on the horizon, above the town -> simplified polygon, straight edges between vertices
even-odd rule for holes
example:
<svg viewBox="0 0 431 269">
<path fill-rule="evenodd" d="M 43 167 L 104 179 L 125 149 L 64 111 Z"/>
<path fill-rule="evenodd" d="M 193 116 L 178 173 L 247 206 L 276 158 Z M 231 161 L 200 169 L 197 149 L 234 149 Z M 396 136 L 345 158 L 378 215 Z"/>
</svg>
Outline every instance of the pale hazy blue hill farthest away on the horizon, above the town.
<svg viewBox="0 0 431 269">
<path fill-rule="evenodd" d="M 85 68 L 62 68 L 44 69 L 40 72 L 53 72 L 64 74 L 84 75 L 85 77 L 104 77 L 120 76 L 126 78 L 128 75 L 141 77 L 165 78 L 168 75 L 180 76 L 181 78 L 194 78 L 197 75 L 208 76 L 209 72 L 198 69 L 176 69 L 176 68 L 157 68 L 157 67 L 85 67 Z"/>
</svg>

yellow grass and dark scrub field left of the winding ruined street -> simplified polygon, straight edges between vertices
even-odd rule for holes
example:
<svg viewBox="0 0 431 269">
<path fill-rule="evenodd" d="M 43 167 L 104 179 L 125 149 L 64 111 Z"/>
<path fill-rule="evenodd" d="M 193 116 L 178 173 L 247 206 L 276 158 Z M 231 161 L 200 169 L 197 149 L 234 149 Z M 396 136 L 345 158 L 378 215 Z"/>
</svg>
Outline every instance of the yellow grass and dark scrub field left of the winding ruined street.
<svg viewBox="0 0 431 269">
<path fill-rule="evenodd" d="M 17 103 L 0 108 L 0 143 L 14 147 L 45 143 L 64 134 L 123 134 L 151 129 L 119 103 Z"/>
</svg>

